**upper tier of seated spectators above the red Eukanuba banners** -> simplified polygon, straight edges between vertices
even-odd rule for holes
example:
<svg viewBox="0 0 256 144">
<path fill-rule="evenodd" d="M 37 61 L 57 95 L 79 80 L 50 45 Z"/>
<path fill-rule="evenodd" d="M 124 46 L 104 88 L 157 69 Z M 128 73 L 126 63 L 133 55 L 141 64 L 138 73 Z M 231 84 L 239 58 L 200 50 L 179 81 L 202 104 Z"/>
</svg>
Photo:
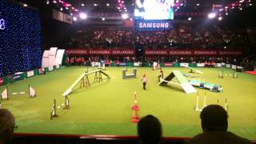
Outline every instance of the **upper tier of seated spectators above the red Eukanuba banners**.
<svg viewBox="0 0 256 144">
<path fill-rule="evenodd" d="M 194 48 L 238 49 L 246 42 L 245 30 L 229 30 L 220 26 L 174 25 L 171 30 L 139 31 L 120 26 L 86 27 L 78 30 L 70 48 Z"/>
</svg>

